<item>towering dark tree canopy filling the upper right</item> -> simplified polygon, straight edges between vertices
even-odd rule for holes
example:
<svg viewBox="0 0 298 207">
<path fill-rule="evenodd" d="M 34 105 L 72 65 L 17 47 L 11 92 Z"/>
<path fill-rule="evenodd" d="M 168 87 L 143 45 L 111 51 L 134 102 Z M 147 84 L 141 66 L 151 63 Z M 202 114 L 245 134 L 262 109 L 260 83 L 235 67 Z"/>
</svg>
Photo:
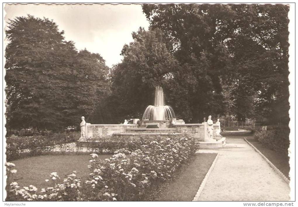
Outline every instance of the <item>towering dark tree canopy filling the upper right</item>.
<svg viewBox="0 0 298 207">
<path fill-rule="evenodd" d="M 195 110 L 243 117 L 255 112 L 269 116 L 283 108 L 279 114 L 287 119 L 288 10 L 286 5 L 143 5 L 150 28 L 166 35 L 181 74 L 194 80 L 184 81 L 184 87 L 193 86 L 186 93 L 198 91 L 193 97 L 203 97 L 187 103 L 194 117 L 201 117 Z"/>
</svg>

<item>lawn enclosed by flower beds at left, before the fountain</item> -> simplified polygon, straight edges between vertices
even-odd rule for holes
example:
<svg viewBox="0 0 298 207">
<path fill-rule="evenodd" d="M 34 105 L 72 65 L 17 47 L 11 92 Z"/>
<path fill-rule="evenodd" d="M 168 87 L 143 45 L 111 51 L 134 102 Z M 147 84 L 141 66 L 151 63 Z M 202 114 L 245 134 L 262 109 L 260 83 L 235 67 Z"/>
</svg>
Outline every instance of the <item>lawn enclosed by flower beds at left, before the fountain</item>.
<svg viewBox="0 0 298 207">
<path fill-rule="evenodd" d="M 98 155 L 99 159 L 112 155 Z M 10 182 L 17 182 L 19 186 L 34 185 L 39 190 L 49 186 L 45 179 L 49 179 L 51 172 L 57 172 L 61 183 L 66 174 L 77 171 L 77 177 L 86 179 L 89 176 L 90 155 L 42 155 L 11 161 L 18 172 Z M 51 180 L 50 180 L 51 181 Z"/>
</svg>

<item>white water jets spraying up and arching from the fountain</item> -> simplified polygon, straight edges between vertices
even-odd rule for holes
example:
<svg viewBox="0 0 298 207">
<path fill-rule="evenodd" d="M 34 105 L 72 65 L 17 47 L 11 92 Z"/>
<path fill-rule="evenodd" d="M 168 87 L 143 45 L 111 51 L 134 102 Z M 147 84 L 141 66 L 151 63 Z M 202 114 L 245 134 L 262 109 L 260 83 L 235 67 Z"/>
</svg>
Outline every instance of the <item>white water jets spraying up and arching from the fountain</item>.
<svg viewBox="0 0 298 207">
<path fill-rule="evenodd" d="M 156 87 L 154 106 L 147 106 L 143 114 L 142 121 L 171 120 L 173 118 L 176 118 L 173 108 L 164 105 L 164 92 L 162 87 Z"/>
</svg>

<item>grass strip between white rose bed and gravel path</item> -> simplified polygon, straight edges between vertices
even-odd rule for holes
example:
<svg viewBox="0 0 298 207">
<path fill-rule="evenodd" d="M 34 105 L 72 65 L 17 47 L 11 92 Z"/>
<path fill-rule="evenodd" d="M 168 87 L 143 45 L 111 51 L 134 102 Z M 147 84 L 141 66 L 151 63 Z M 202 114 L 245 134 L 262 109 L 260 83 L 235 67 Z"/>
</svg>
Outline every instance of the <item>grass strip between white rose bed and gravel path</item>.
<svg viewBox="0 0 298 207">
<path fill-rule="evenodd" d="M 145 200 L 192 201 L 207 174 L 216 153 L 197 153 L 193 161 L 174 174 L 172 181 L 152 189 Z"/>
</svg>

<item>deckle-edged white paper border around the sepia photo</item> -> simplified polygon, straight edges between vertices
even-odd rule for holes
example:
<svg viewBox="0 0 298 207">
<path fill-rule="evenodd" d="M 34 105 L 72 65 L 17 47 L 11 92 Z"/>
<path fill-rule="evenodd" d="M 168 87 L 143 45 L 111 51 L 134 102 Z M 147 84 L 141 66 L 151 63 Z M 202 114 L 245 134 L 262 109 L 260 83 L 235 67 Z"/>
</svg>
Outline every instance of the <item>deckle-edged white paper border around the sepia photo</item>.
<svg viewBox="0 0 298 207">
<path fill-rule="evenodd" d="M 14 0 L 11 1 L 12 3 L 15 2 Z M 42 2 L 42 1 L 41 1 Z M 15 2 L 15 3 L 19 3 L 19 2 Z M 31 3 L 35 3 L 35 4 L 40 4 L 40 3 L 37 3 L 37 2 L 34 2 L 32 1 Z M 118 1 L 118 3 L 108 3 L 108 4 L 144 4 L 144 3 L 149 3 L 150 2 L 140 2 L 140 3 L 125 3 L 125 2 L 122 2 L 122 1 Z M 154 3 L 159 3 L 159 4 L 162 4 L 161 2 L 154 2 Z M 151 4 L 154 4 L 153 2 L 151 2 Z M 177 1 L 173 1 L 173 2 L 170 2 L 170 3 L 174 3 L 174 4 L 179 4 L 179 2 Z M 197 3 L 197 1 L 189 1 L 189 3 Z M 242 4 L 252 4 L 253 2 L 242 2 Z M 254 2 L 254 3 L 257 3 L 257 2 Z M 280 1 L 271 1 L 271 2 L 266 2 L 266 3 L 257 3 L 257 4 L 276 4 L 276 3 L 279 3 L 279 4 L 288 4 L 290 6 L 290 11 L 288 13 L 288 18 L 290 20 L 289 24 L 288 24 L 288 29 L 289 29 L 289 43 L 290 43 L 290 46 L 289 46 L 289 51 L 288 51 L 288 54 L 289 54 L 289 71 L 290 71 L 290 74 L 289 74 L 289 82 L 290 82 L 290 85 L 289 85 L 289 92 L 290 92 L 290 97 L 289 97 L 289 102 L 290 102 L 290 110 L 289 110 L 289 117 L 290 117 L 290 123 L 289 123 L 289 127 L 291 129 L 290 131 L 290 136 L 289 136 L 289 139 L 290 139 L 290 148 L 289 148 L 289 157 L 290 157 L 290 177 L 291 177 L 291 182 L 290 182 L 290 188 L 291 188 L 291 193 L 290 193 L 290 197 L 291 197 L 291 200 L 294 200 L 295 198 L 295 146 L 296 146 L 296 143 L 295 143 L 295 132 L 296 132 L 296 128 L 295 128 L 295 115 L 296 115 L 296 112 L 295 112 L 295 26 L 296 26 L 296 17 L 295 17 L 295 3 L 281 3 Z M 7 3 L 6 3 L 7 4 Z M 11 3 L 9 3 L 11 4 Z M 22 3 L 19 3 L 19 4 L 22 4 Z M 23 3 L 24 4 L 24 3 Z M 27 3 L 25 3 L 27 4 Z M 44 4 L 51 4 L 51 3 L 44 3 Z M 55 4 L 71 4 L 70 2 L 67 3 L 55 3 Z M 93 3 L 84 3 L 84 4 L 93 4 Z M 97 3 L 98 4 L 98 3 Z M 102 3 L 102 4 L 105 4 L 105 3 Z M 185 4 L 185 3 L 184 3 Z M 231 1 L 214 1 L 213 3 L 208 3 L 208 4 L 241 4 L 241 3 L 235 3 L 235 2 L 231 2 Z M 3 27 L 2 27 L 2 31 L 3 31 L 3 39 L 5 38 L 5 33 L 4 33 L 4 27 L 5 27 L 5 21 L 4 21 L 4 17 L 5 17 L 5 10 L 4 10 L 4 7 L 5 7 L 5 3 L 2 5 L 2 8 L 3 8 Z M 3 88 L 2 88 L 2 97 L 3 97 L 3 111 L 2 111 L 2 115 L 3 115 L 3 119 L 2 119 L 2 124 L 3 124 L 3 165 L 6 161 L 6 155 L 5 155 L 5 150 L 6 150 L 6 139 L 5 139 L 5 134 L 6 134 L 6 128 L 5 128 L 5 123 L 6 123 L 6 119 L 5 119 L 5 105 L 4 105 L 4 101 L 6 99 L 6 96 L 5 96 L 5 91 L 4 91 L 4 88 L 6 86 L 5 84 L 5 80 L 4 80 L 4 77 L 5 77 L 5 69 L 4 69 L 4 64 L 5 64 L 5 57 L 4 57 L 4 54 L 5 54 L 5 47 L 6 45 L 3 44 L 3 51 L 2 51 L 2 57 L 3 57 Z M 3 175 L 5 175 L 6 173 L 6 169 L 5 167 L 3 167 Z M 3 179 L 3 182 L 6 182 L 6 179 L 4 178 Z M 5 186 L 5 185 L 4 185 Z M 4 190 L 4 197 L 6 197 L 6 192 Z M 3 197 L 3 198 L 4 198 Z M 32 204 L 32 202 L 31 202 Z M 109 204 L 109 205 L 113 205 L 113 204 Z M 222 205 L 225 206 L 225 204 L 222 203 Z"/>
</svg>

